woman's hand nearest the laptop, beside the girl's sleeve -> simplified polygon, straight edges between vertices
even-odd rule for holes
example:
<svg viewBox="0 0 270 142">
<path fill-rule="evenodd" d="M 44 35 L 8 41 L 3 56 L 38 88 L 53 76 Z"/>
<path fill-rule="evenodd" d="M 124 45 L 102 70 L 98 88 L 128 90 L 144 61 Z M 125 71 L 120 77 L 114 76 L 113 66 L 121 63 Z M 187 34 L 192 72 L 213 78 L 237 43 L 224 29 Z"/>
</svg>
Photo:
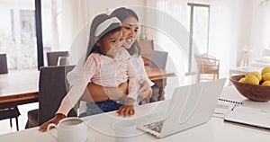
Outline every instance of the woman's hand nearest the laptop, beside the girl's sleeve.
<svg viewBox="0 0 270 142">
<path fill-rule="evenodd" d="M 138 91 L 139 98 L 142 101 L 150 99 L 152 96 L 152 88 L 150 87 L 148 82 L 144 79 L 141 79 L 139 80 L 139 84 L 140 84 L 139 91 Z"/>
</svg>

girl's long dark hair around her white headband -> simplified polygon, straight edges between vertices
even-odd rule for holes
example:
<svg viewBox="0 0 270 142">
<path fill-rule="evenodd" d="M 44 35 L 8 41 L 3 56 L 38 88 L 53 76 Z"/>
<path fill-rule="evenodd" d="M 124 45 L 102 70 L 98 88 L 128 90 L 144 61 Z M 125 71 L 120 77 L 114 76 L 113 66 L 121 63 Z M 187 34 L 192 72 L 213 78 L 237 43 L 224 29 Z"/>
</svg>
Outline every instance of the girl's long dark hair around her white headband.
<svg viewBox="0 0 270 142">
<path fill-rule="evenodd" d="M 116 31 L 121 31 L 121 23 L 112 23 L 105 31 L 103 31 L 98 37 L 94 36 L 94 32 L 96 31 L 96 28 L 105 20 L 108 20 L 112 18 L 112 16 L 109 16 L 105 13 L 99 14 L 97 16 L 94 17 L 93 22 L 91 23 L 91 27 L 90 27 L 90 35 L 89 35 L 89 41 L 88 41 L 88 47 L 87 47 L 87 53 L 86 53 L 86 57 L 85 60 L 88 58 L 88 56 L 93 53 L 93 52 L 100 52 L 100 48 L 98 46 L 96 46 L 95 44 L 95 38 L 99 39 L 103 39 L 104 36 L 108 35 L 108 34 L 112 34 Z"/>
</svg>

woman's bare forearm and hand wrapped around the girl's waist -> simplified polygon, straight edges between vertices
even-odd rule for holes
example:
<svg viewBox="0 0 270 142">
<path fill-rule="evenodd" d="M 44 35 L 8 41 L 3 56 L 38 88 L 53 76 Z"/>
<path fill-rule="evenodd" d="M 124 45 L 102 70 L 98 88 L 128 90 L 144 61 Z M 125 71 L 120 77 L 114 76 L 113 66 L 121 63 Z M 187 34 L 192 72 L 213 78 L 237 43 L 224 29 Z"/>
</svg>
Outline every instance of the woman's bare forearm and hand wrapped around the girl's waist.
<svg viewBox="0 0 270 142">
<path fill-rule="evenodd" d="M 87 84 L 85 93 L 80 98 L 85 102 L 103 102 L 126 97 L 128 93 L 128 83 L 122 83 L 118 87 L 103 87 L 99 84 Z"/>
</svg>

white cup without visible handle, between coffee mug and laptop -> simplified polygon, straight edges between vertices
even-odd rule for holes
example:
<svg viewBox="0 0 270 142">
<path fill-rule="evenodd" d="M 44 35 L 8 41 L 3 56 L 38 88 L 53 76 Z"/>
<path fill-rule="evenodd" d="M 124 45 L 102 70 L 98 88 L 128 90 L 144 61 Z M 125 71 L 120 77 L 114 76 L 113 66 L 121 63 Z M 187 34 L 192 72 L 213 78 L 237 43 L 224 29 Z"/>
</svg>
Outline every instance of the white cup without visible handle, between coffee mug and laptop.
<svg viewBox="0 0 270 142">
<path fill-rule="evenodd" d="M 118 120 L 114 123 L 114 130 L 117 142 L 135 141 L 136 122 L 134 120 Z"/>
</svg>

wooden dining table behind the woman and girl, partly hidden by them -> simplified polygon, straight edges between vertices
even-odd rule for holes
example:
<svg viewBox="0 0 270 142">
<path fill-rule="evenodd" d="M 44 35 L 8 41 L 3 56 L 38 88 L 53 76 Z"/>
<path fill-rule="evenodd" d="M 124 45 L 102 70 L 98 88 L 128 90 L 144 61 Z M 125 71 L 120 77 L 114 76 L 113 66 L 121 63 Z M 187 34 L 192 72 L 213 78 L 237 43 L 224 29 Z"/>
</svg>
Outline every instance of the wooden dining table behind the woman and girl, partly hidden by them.
<svg viewBox="0 0 270 142">
<path fill-rule="evenodd" d="M 164 93 L 166 78 L 175 73 L 153 67 L 145 67 L 148 77 L 157 84 L 160 95 Z M 0 75 L 0 109 L 39 101 L 38 69 L 12 70 Z M 162 96 L 160 97 L 161 100 Z"/>
</svg>

